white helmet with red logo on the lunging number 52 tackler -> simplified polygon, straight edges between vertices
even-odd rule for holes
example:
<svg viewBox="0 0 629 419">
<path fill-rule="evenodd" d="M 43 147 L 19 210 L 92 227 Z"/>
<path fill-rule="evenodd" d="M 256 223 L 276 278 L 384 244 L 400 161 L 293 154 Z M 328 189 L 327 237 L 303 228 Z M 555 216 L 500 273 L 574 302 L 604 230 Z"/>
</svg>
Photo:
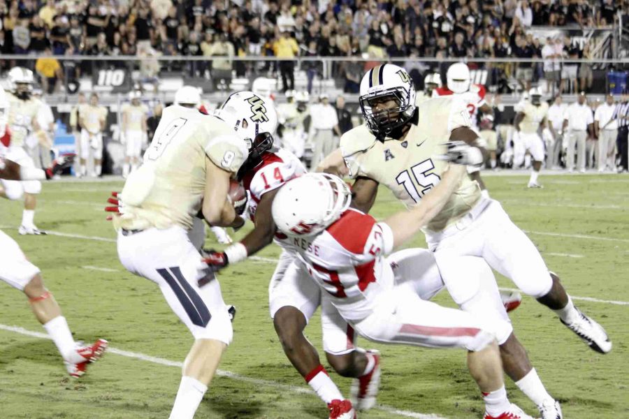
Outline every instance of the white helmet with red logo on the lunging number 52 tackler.
<svg viewBox="0 0 629 419">
<path fill-rule="evenodd" d="M 271 213 L 285 235 L 308 237 L 338 220 L 351 202 L 352 191 L 340 177 L 307 173 L 280 188 Z"/>
</svg>

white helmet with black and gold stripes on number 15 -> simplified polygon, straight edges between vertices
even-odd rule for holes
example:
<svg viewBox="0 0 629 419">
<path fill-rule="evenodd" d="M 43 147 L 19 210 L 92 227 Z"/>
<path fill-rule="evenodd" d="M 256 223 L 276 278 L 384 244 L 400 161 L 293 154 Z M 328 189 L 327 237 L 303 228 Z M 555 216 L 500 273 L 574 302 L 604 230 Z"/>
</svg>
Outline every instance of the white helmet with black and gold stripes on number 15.
<svg viewBox="0 0 629 419">
<path fill-rule="evenodd" d="M 396 101 L 394 108 L 375 107 Z M 363 117 L 371 132 L 384 140 L 394 129 L 406 124 L 415 112 L 415 87 L 407 71 L 393 64 L 375 66 L 363 76 L 359 97 Z"/>
</svg>

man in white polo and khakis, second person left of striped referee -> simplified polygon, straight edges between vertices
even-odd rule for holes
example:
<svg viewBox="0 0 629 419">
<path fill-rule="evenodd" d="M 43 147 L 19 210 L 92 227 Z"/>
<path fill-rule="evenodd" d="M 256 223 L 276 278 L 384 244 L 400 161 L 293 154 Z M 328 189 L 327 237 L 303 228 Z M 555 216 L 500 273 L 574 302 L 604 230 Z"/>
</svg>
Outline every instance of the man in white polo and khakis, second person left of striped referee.
<svg viewBox="0 0 629 419">
<path fill-rule="evenodd" d="M 565 166 L 568 171 L 574 170 L 574 152 L 577 152 L 577 168 L 579 172 L 585 172 L 586 163 L 586 138 L 588 132 L 593 136 L 594 118 L 592 110 L 586 103 L 586 95 L 581 91 L 577 96 L 577 102 L 572 103 L 563 115 L 563 131 L 568 136 L 568 147 L 565 158 Z"/>
</svg>

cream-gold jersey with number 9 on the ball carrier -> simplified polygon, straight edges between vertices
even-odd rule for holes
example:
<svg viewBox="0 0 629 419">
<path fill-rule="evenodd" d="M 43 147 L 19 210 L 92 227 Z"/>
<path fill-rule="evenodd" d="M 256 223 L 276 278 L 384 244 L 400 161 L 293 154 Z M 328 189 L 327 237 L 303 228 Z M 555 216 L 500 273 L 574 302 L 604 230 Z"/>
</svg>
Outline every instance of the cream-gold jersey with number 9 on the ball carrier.
<svg viewBox="0 0 629 419">
<path fill-rule="evenodd" d="M 124 214 L 115 227 L 127 230 L 192 227 L 205 192 L 210 159 L 236 173 L 247 158 L 245 141 L 222 119 L 179 105 L 164 109 L 143 165 L 122 190 Z"/>
</svg>

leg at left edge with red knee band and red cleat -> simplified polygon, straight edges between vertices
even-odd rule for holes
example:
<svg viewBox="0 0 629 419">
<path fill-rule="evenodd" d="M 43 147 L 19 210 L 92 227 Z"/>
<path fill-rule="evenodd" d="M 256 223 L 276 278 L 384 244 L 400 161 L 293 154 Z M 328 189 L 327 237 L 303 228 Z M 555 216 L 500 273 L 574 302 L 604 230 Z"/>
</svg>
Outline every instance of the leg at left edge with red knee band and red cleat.
<svg viewBox="0 0 629 419">
<path fill-rule="evenodd" d="M 68 373 L 75 377 L 85 374 L 87 364 L 101 357 L 107 348 L 107 341 L 99 339 L 92 346 L 78 346 L 59 304 L 45 288 L 38 267 L 30 263 L 17 243 L 2 232 L 0 248 L 0 279 L 28 297 L 35 317 L 66 362 Z"/>
</svg>

